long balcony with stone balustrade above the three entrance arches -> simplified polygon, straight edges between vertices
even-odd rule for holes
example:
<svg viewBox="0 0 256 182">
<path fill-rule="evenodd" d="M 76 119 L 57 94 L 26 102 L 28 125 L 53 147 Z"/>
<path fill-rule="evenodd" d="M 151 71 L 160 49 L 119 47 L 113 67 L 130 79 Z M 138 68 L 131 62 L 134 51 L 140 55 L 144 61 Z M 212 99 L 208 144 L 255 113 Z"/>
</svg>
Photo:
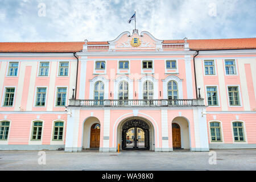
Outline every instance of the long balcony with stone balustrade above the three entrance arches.
<svg viewBox="0 0 256 182">
<path fill-rule="evenodd" d="M 205 106 L 204 99 L 178 100 L 69 100 L 69 107 L 192 107 Z"/>
</svg>

